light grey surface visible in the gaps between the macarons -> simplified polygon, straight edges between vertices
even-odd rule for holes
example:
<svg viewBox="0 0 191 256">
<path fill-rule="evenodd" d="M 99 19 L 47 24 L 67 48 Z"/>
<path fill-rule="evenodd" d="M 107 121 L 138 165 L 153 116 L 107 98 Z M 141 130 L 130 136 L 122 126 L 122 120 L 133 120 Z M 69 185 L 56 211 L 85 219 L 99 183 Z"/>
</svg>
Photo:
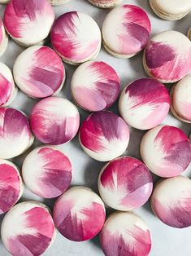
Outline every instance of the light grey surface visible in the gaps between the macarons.
<svg viewBox="0 0 191 256">
<path fill-rule="evenodd" d="M 30 0 L 28 0 L 30 1 Z M 41 0 L 39 0 L 41 1 Z M 191 26 L 191 13 L 187 15 L 184 19 L 179 21 L 166 21 L 160 20 L 156 15 L 154 15 L 153 11 L 150 9 L 149 3 L 147 0 L 128 0 L 124 1 L 124 3 L 135 4 L 139 7 L 143 7 L 150 16 L 150 20 L 152 23 L 152 35 L 162 32 L 163 30 L 175 29 L 180 31 L 181 33 L 187 33 L 189 26 Z M 0 16 L 3 16 L 4 6 L 0 5 Z M 72 0 L 67 4 L 59 7 L 54 7 L 54 11 L 56 16 L 59 16 L 67 11 L 83 11 L 89 15 L 92 15 L 94 20 L 96 20 L 100 27 L 102 27 L 102 22 L 106 17 L 107 13 L 110 10 L 103 10 L 97 7 L 93 7 L 86 0 Z M 112 29 L 112 28 L 111 28 Z M 13 67 L 15 58 L 20 54 L 21 51 L 24 51 L 24 47 L 17 45 L 15 42 L 10 40 L 6 53 L 2 56 L 0 61 L 7 64 L 10 68 Z M 116 59 L 109 55 L 104 49 L 98 55 L 97 60 L 104 60 L 108 64 L 111 64 L 116 71 L 119 73 L 119 77 L 121 78 L 121 89 L 124 88 L 129 82 L 141 77 L 146 77 L 145 72 L 142 68 L 142 53 L 133 57 L 130 60 L 122 60 Z M 71 99 L 70 92 L 70 81 L 72 77 L 72 73 L 76 69 L 76 67 L 72 67 L 68 64 L 65 64 L 66 72 L 67 72 L 67 81 L 63 90 L 59 93 L 59 96 L 67 99 Z M 15 98 L 13 104 L 11 105 L 14 108 L 18 108 L 25 113 L 29 114 L 33 105 L 37 102 L 35 99 L 31 99 L 28 96 L 24 95 L 19 91 L 19 94 Z M 117 104 L 111 108 L 111 110 L 117 113 Z M 88 113 L 80 110 L 80 117 L 83 120 Z M 167 119 L 163 121 L 165 124 L 170 124 L 172 126 L 180 127 L 184 132 L 189 135 L 189 131 L 191 127 L 189 124 L 185 124 L 176 120 L 175 117 L 169 113 Z M 144 131 L 131 129 L 131 137 L 130 143 L 128 145 L 128 149 L 124 152 L 124 155 L 129 155 L 132 157 L 140 158 L 139 154 L 139 145 L 142 135 L 144 135 Z M 39 143 L 35 141 L 32 148 L 35 148 Z M 30 148 L 28 152 L 32 149 Z M 64 152 L 67 153 L 67 156 L 72 159 L 73 164 L 73 179 L 72 185 L 84 185 L 89 188 L 92 188 L 95 192 L 98 192 L 97 187 L 97 179 L 99 171 L 104 165 L 103 162 L 94 161 L 90 157 L 86 156 L 84 152 L 82 152 L 80 145 L 78 143 L 77 137 L 72 140 L 72 142 L 67 143 L 65 145 L 60 146 L 63 148 Z M 20 167 L 22 166 L 22 162 L 27 153 L 20 157 L 15 157 L 13 161 L 18 164 Z M 191 178 L 191 166 L 189 166 L 188 170 L 184 172 L 184 175 L 189 176 Z M 154 181 L 158 178 L 154 176 Z M 29 192 L 27 188 L 24 189 L 24 195 L 22 196 L 21 201 L 35 199 L 38 201 L 44 202 L 46 205 L 49 205 L 50 208 L 54 205 L 54 200 L 44 200 L 38 196 L 35 196 L 32 192 Z M 111 209 L 106 210 L 107 214 L 113 212 Z M 135 210 L 137 214 L 141 216 L 145 220 L 145 222 L 149 225 L 151 233 L 152 233 L 152 251 L 151 256 L 190 256 L 191 255 L 191 227 L 185 228 L 184 230 L 168 227 L 163 224 L 152 214 L 150 210 L 150 203 L 145 204 L 141 209 Z M 0 219 L 2 221 L 3 215 L 1 215 Z M 7 256 L 10 255 L 7 253 L 7 250 L 4 249 L 2 243 L 0 243 L 0 255 Z M 101 256 L 103 255 L 102 249 L 99 245 L 98 237 L 94 238 L 92 241 L 85 242 L 72 242 L 65 239 L 58 232 L 57 237 L 54 241 L 54 244 L 50 249 L 46 251 L 46 256 Z"/>
</svg>

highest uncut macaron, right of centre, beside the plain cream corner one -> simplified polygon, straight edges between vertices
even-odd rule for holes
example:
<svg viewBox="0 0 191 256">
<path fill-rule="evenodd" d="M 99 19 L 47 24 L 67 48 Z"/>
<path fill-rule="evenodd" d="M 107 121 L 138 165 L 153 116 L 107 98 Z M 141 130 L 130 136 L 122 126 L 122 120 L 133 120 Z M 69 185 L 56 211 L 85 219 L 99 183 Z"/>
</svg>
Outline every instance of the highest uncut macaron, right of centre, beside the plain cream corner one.
<svg viewBox="0 0 191 256">
<path fill-rule="evenodd" d="M 115 7 L 102 24 L 103 46 L 115 57 L 130 58 L 145 48 L 150 30 L 150 19 L 140 7 Z"/>
</svg>

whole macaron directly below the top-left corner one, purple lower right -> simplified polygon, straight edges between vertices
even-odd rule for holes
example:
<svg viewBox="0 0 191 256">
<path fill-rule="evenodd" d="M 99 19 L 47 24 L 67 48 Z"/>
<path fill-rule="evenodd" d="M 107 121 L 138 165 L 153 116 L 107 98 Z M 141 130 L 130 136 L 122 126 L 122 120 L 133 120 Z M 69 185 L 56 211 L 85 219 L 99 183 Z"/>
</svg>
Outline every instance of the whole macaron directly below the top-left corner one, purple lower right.
<svg viewBox="0 0 191 256">
<path fill-rule="evenodd" d="M 31 46 L 15 60 L 15 83 L 26 95 L 46 98 L 63 88 L 65 69 L 59 55 L 47 46 Z"/>
</svg>

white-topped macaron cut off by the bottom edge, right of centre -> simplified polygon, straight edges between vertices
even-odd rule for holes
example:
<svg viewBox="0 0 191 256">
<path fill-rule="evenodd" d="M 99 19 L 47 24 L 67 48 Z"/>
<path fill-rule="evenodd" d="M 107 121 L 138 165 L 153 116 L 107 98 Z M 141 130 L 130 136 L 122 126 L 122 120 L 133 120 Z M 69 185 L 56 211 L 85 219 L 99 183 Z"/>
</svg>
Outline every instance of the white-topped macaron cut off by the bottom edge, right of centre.
<svg viewBox="0 0 191 256">
<path fill-rule="evenodd" d="M 124 212 L 111 214 L 102 228 L 100 241 L 106 256 L 150 254 L 150 229 L 136 214 Z"/>
</svg>

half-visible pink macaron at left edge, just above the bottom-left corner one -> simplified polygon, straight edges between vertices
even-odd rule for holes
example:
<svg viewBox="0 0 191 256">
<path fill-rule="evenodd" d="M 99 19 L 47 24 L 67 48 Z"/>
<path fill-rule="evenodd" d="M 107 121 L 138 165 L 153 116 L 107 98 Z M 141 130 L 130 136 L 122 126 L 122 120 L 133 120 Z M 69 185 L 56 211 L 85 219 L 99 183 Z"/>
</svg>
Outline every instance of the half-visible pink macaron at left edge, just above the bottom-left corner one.
<svg viewBox="0 0 191 256">
<path fill-rule="evenodd" d="M 0 214 L 10 210 L 23 194 L 20 171 L 11 161 L 0 160 Z"/>
</svg>

